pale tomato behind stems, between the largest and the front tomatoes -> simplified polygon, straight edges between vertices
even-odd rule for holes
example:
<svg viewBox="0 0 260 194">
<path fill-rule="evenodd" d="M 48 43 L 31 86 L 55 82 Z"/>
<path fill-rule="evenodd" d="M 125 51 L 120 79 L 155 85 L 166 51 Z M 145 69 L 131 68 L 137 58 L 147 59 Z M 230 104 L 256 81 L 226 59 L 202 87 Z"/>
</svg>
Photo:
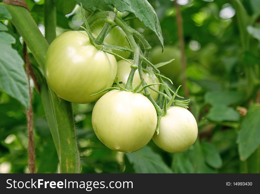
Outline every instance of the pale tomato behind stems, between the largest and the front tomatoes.
<svg viewBox="0 0 260 194">
<path fill-rule="evenodd" d="M 128 59 L 131 63 L 133 63 L 133 60 L 132 59 Z M 117 74 L 116 76 L 118 76 L 118 81 L 119 82 L 123 82 L 126 84 L 127 82 L 127 79 L 128 79 L 128 76 L 129 76 L 129 73 L 131 71 L 131 64 L 125 60 L 121 60 L 121 61 L 118 61 L 117 62 Z M 143 77 L 144 77 L 144 81 L 147 83 L 147 84 L 152 84 L 152 76 L 151 74 L 149 73 L 146 73 L 146 72 L 143 72 Z M 135 71 L 134 73 L 134 79 L 133 79 L 133 89 L 135 87 L 137 87 L 141 82 L 141 79 L 139 77 L 139 73 L 138 73 L 138 70 Z M 160 83 L 158 78 L 155 77 L 155 82 L 154 83 Z M 154 89 L 156 90 L 159 90 L 159 85 L 154 85 L 154 86 L 151 86 L 153 87 Z M 154 100 L 157 100 L 159 94 L 157 92 L 154 92 L 152 91 L 151 89 L 148 88 L 148 90 L 151 92 L 151 96 Z"/>
</svg>

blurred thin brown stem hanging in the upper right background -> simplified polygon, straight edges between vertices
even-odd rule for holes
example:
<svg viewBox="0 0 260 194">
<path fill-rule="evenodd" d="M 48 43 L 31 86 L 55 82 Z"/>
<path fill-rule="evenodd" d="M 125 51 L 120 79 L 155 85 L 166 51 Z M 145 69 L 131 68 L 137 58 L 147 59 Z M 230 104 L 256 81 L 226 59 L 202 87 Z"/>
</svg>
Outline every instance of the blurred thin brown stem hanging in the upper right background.
<svg viewBox="0 0 260 194">
<path fill-rule="evenodd" d="M 180 6 L 177 3 L 177 1 L 174 1 L 175 7 L 176 7 L 176 20 L 177 20 L 177 29 L 178 29 L 178 36 L 179 36 L 179 42 L 180 42 L 180 48 L 181 48 L 181 73 L 183 77 L 183 89 L 184 89 L 184 96 L 189 96 L 189 90 L 187 88 L 187 78 L 186 78 L 186 59 L 185 59 L 185 53 L 184 53 L 184 38 L 183 38 L 183 26 L 182 26 L 182 16 L 181 16 L 181 10 Z"/>
</svg>

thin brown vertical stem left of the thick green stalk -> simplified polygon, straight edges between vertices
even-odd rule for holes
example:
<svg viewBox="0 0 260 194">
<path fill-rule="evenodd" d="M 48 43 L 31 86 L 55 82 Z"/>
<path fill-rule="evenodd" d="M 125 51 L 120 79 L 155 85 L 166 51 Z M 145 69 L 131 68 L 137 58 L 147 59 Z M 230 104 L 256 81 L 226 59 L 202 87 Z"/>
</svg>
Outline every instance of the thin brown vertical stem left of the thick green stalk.
<svg viewBox="0 0 260 194">
<path fill-rule="evenodd" d="M 35 150 L 34 150 L 34 140 L 33 140 L 33 118 L 32 118 L 32 93 L 31 93 L 31 87 L 30 87 L 30 72 L 31 71 L 31 64 L 29 61 L 28 53 L 27 53 L 27 46 L 24 43 L 23 45 L 23 56 L 25 61 L 25 69 L 26 74 L 29 82 L 29 96 L 30 96 L 30 107 L 29 110 L 26 111 L 26 117 L 27 117 L 27 128 L 28 128 L 28 167 L 30 170 L 30 173 L 35 173 Z"/>
</svg>

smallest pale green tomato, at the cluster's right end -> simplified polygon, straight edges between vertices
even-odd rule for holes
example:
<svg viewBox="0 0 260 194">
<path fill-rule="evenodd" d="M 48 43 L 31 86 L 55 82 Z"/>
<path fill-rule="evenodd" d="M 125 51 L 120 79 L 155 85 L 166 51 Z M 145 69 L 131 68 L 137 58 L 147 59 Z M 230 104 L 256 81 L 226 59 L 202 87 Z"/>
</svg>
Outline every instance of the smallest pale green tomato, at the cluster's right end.
<svg viewBox="0 0 260 194">
<path fill-rule="evenodd" d="M 183 152 L 197 139 L 198 126 L 194 116 L 182 107 L 170 107 L 159 122 L 159 135 L 152 140 L 167 152 Z"/>
</svg>

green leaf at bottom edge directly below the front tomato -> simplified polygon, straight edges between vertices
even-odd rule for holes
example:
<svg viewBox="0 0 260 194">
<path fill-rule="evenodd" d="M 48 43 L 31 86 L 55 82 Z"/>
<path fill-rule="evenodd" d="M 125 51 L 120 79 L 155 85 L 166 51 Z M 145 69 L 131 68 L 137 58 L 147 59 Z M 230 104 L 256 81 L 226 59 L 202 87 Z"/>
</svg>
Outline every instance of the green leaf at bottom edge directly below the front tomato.
<svg viewBox="0 0 260 194">
<path fill-rule="evenodd" d="M 126 153 L 126 156 L 129 162 L 134 165 L 136 173 L 173 173 L 160 155 L 153 152 L 148 146 L 133 153 Z"/>
</svg>

